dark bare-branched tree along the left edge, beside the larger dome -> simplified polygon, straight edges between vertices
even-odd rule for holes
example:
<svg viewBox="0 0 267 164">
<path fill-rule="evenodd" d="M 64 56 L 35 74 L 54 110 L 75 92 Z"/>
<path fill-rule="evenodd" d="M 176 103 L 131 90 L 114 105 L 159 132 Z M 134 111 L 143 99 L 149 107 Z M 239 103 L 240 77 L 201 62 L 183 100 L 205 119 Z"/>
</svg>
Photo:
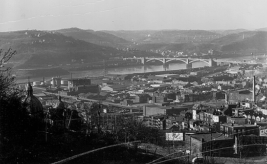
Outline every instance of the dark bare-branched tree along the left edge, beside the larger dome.
<svg viewBox="0 0 267 164">
<path fill-rule="evenodd" d="M 32 134 L 28 133 L 31 129 L 24 87 L 16 86 L 10 68 L 4 66 L 14 54 L 11 48 L 6 52 L 0 49 L 0 163 L 10 163 L 8 158 L 21 152 Z"/>
</svg>

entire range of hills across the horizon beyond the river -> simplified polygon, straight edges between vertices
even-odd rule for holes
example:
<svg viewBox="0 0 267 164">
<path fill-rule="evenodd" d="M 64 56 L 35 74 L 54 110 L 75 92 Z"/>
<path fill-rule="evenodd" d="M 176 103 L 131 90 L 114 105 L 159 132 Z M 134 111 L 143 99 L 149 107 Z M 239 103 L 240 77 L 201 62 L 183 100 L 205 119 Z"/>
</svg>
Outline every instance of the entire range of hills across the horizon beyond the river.
<svg viewBox="0 0 267 164">
<path fill-rule="evenodd" d="M 12 47 L 18 52 L 8 63 L 15 68 L 98 62 L 121 56 L 160 56 L 150 50 L 183 51 L 185 54 L 207 53 L 210 49 L 223 53 L 267 51 L 267 31 L 237 30 L 242 32 L 221 35 L 205 30 L 22 30 L 0 32 L 0 48 Z"/>
</svg>

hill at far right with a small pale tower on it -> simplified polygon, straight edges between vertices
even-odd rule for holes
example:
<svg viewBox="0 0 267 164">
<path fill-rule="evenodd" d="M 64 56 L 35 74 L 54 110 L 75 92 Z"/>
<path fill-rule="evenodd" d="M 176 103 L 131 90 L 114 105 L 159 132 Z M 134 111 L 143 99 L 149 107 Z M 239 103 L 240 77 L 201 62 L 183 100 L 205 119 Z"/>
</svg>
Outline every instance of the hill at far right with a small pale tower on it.
<svg viewBox="0 0 267 164">
<path fill-rule="evenodd" d="M 244 34 L 244 39 L 243 39 Z M 180 43 L 143 43 L 135 45 L 139 49 L 172 50 L 185 53 L 207 53 L 213 49 L 222 52 L 266 51 L 267 32 L 246 31 L 233 33 L 211 41 Z"/>
</svg>

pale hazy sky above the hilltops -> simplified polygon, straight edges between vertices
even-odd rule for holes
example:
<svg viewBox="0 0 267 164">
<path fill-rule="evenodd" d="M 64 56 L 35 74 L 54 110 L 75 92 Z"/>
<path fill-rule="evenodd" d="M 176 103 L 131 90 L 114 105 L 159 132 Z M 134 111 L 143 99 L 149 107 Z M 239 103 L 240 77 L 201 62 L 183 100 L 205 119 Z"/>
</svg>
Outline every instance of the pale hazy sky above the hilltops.
<svg viewBox="0 0 267 164">
<path fill-rule="evenodd" d="M 267 0 L 0 0 L 0 4 L 0 31 L 267 27 Z"/>
</svg>

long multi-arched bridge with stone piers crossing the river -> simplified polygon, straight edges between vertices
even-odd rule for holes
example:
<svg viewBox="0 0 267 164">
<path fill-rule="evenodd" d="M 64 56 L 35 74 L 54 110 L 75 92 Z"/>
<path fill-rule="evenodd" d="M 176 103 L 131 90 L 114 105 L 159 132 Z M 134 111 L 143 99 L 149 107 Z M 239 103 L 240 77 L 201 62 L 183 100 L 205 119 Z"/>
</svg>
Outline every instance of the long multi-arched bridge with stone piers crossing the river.
<svg viewBox="0 0 267 164">
<path fill-rule="evenodd" d="M 172 61 L 181 61 L 186 63 L 186 68 L 192 68 L 192 63 L 193 62 L 205 62 L 207 64 L 209 64 L 209 66 L 215 66 L 217 65 L 217 62 L 215 62 L 213 59 L 192 59 L 192 58 L 151 58 L 151 57 L 142 57 L 142 58 L 124 58 L 124 60 L 126 59 L 134 59 L 134 60 L 140 60 L 142 64 L 146 64 L 147 62 L 151 62 L 151 61 L 159 61 L 162 62 L 163 65 L 168 65 L 169 62 Z"/>
</svg>

